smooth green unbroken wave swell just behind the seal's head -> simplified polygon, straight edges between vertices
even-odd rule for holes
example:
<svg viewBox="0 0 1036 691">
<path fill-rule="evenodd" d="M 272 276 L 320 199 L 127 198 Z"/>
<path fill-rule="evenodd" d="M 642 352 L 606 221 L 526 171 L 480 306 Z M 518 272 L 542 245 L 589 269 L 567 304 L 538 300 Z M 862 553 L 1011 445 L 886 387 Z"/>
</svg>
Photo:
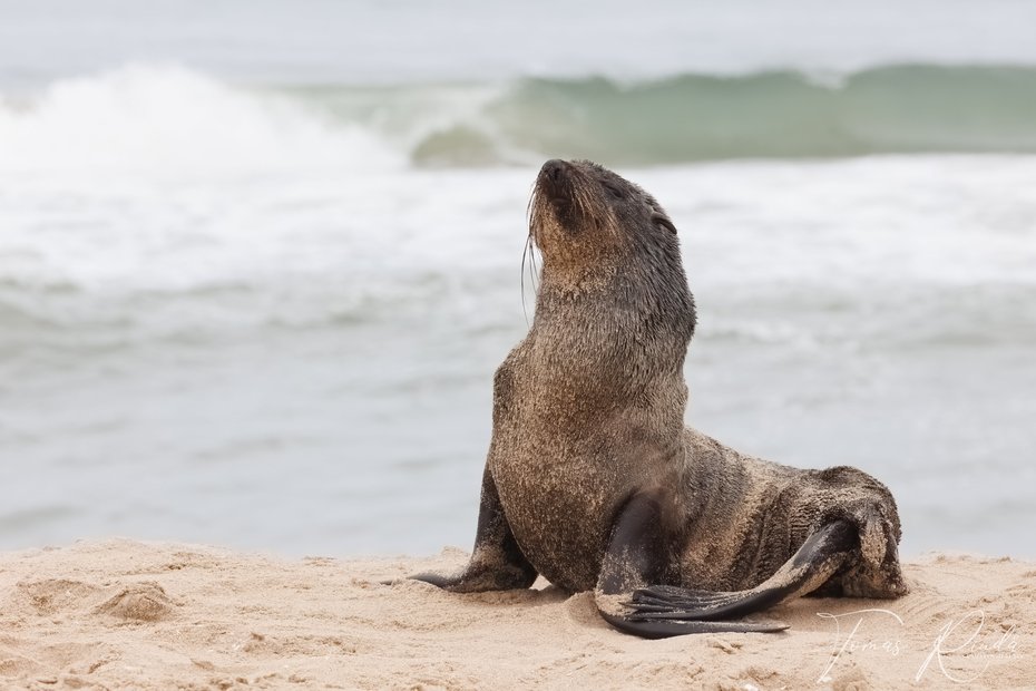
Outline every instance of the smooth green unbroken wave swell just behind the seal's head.
<svg viewBox="0 0 1036 691">
<path fill-rule="evenodd" d="M 620 84 L 528 79 L 486 108 L 510 147 L 614 165 L 1036 152 L 1036 69 L 895 66 Z"/>
</svg>

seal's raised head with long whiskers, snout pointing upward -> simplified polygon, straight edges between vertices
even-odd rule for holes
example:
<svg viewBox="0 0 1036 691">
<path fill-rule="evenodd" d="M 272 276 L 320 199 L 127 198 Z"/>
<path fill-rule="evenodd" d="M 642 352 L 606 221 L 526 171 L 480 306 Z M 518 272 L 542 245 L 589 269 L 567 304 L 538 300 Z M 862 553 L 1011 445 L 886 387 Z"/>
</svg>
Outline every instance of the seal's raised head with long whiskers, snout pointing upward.
<svg viewBox="0 0 1036 691">
<path fill-rule="evenodd" d="M 586 290 L 644 261 L 683 274 L 676 227 L 658 202 L 589 160 L 544 164 L 529 233 L 544 256 L 545 282 Z"/>
</svg>

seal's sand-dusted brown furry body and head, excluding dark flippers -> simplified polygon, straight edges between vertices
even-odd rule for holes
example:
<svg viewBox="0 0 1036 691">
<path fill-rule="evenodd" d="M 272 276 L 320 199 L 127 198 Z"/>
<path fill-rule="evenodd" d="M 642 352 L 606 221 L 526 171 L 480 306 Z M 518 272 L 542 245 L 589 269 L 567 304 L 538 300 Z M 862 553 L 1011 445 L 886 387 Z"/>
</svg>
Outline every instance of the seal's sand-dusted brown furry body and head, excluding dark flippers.
<svg viewBox="0 0 1036 691">
<path fill-rule="evenodd" d="M 496 374 L 487 471 L 536 571 L 593 588 L 616 513 L 659 488 L 664 583 L 752 587 L 841 517 L 858 526 L 861 551 L 825 590 L 906 592 L 883 485 L 853 468 L 751 458 L 684 428 L 695 308 L 674 228 L 651 195 L 595 164 L 551 162 L 530 233 L 543 253 L 536 315 Z"/>
</svg>

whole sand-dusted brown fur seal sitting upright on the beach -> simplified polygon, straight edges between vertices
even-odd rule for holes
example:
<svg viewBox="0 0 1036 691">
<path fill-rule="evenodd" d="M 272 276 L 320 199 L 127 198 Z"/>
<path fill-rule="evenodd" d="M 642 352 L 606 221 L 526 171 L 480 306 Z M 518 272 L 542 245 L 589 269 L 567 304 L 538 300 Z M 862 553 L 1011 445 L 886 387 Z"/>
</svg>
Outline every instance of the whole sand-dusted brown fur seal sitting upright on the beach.
<svg viewBox="0 0 1036 691">
<path fill-rule="evenodd" d="M 470 562 L 413 578 L 471 593 L 543 575 L 593 590 L 606 621 L 644 638 L 778 631 L 737 620 L 808 593 L 907 592 L 884 485 L 684 427 L 695 305 L 654 197 L 597 164 L 548 160 L 529 234 L 536 313 L 493 378 Z"/>
</svg>

